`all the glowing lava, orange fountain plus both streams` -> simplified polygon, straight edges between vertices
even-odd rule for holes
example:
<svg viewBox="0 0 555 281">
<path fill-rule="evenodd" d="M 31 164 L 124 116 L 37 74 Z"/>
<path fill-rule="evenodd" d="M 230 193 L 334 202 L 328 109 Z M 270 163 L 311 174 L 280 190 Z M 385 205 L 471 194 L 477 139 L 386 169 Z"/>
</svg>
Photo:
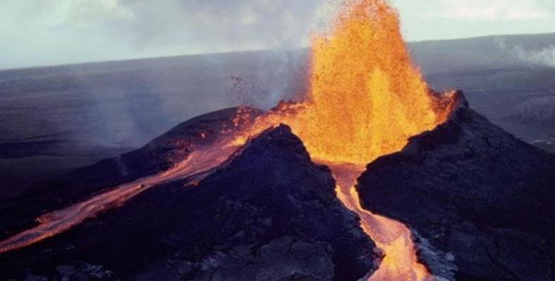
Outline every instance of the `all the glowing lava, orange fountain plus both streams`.
<svg viewBox="0 0 555 281">
<path fill-rule="evenodd" d="M 310 86 L 303 101 L 280 103 L 246 128 L 222 133 L 219 141 L 162 174 L 41 216 L 37 227 L 0 242 L 0 253 L 68 230 L 148 188 L 207 174 L 249 138 L 287 124 L 313 161 L 332 169 L 337 197 L 360 216 L 363 230 L 383 251 L 379 269 L 367 280 L 433 280 L 417 261 L 407 226 L 363 209 L 355 183 L 367 164 L 445 122 L 455 99 L 429 91 L 400 34 L 398 13 L 387 1 L 348 1 L 331 27 L 312 39 Z"/>
</svg>

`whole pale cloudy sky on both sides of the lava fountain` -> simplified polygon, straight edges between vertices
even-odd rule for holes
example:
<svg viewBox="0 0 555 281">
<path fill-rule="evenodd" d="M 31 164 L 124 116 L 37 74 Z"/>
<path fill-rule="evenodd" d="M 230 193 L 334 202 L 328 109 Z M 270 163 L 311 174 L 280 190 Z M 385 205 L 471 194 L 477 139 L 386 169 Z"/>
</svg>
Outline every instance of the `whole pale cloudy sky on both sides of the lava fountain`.
<svg viewBox="0 0 555 281">
<path fill-rule="evenodd" d="M 299 48 L 339 0 L 0 0 L 0 69 Z M 408 41 L 555 32 L 554 0 L 391 0 Z"/>
</svg>

